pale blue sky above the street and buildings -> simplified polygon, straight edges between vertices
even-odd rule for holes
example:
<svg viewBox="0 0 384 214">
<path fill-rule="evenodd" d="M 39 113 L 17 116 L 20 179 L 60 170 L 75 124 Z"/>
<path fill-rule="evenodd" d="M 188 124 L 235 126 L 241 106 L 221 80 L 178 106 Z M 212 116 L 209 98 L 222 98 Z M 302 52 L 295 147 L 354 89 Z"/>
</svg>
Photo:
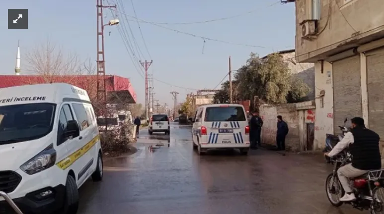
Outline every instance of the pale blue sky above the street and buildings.
<svg viewBox="0 0 384 214">
<path fill-rule="evenodd" d="M 122 34 L 122 39 L 118 26 L 107 26 L 104 39 L 106 74 L 130 78 L 137 101 L 143 104 L 145 80 L 139 59 L 153 60 L 149 73 L 156 79 L 154 99 L 159 100 L 159 104 L 173 104 L 171 91 L 177 91 L 178 101 L 182 102 L 187 93 L 194 92 L 192 89 L 214 89 L 228 73 L 229 56 L 232 70 L 236 70 L 251 52 L 264 56 L 294 49 L 295 4 L 278 1 L 103 0 L 104 5 L 108 2 L 118 5 L 117 12 L 104 10 L 104 22 L 117 14 L 119 28 L 126 29 L 129 39 L 137 44 L 132 45 L 135 54 L 132 56 L 123 42 L 128 37 Z M 47 39 L 66 53 L 96 61 L 96 0 L 4 0 L 2 5 L 0 74 L 14 74 L 18 40 L 21 74 L 25 66 L 23 55 Z M 7 9 L 28 9 L 28 29 L 7 29 Z M 197 24 L 172 24 L 231 16 L 236 17 Z M 141 21 L 144 40 L 135 17 Z"/>
</svg>

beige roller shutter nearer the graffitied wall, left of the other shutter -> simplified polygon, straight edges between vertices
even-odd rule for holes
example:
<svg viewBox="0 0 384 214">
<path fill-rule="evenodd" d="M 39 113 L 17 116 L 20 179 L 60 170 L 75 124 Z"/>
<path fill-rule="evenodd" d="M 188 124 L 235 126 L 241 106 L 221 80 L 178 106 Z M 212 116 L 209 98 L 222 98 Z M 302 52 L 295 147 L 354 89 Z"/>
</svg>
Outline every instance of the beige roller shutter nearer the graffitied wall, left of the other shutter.
<svg viewBox="0 0 384 214">
<path fill-rule="evenodd" d="M 333 126 L 340 134 L 339 125 L 362 116 L 360 56 L 355 55 L 333 62 Z"/>
</svg>

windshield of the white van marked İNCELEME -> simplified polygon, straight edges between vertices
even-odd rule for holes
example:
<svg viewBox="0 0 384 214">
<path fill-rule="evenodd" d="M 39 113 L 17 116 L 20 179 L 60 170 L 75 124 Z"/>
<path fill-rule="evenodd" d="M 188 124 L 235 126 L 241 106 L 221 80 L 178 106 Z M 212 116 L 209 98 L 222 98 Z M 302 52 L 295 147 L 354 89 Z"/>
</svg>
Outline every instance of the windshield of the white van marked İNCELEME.
<svg viewBox="0 0 384 214">
<path fill-rule="evenodd" d="M 56 104 L 0 107 L 0 145 L 36 140 L 52 131 Z"/>
</svg>

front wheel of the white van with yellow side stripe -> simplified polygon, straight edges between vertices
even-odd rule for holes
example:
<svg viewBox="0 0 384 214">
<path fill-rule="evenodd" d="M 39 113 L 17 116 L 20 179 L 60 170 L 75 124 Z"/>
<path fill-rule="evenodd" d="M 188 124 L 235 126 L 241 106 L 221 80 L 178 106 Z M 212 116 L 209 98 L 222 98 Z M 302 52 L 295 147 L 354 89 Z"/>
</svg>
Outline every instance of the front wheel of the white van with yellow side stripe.
<svg viewBox="0 0 384 214">
<path fill-rule="evenodd" d="M 68 175 L 64 207 L 61 214 L 76 214 L 78 209 L 78 190 L 75 178 Z"/>
</svg>

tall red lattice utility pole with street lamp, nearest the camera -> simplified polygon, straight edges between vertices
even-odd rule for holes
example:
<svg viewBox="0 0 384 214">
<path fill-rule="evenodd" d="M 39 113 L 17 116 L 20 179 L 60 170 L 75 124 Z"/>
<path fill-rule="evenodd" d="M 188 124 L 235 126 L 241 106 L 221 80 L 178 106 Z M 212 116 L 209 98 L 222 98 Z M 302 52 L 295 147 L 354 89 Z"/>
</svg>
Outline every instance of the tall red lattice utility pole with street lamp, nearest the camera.
<svg viewBox="0 0 384 214">
<path fill-rule="evenodd" d="M 97 100 L 106 102 L 107 92 L 105 90 L 105 54 L 104 54 L 104 27 L 117 24 L 110 21 L 104 25 L 103 8 L 116 8 L 115 6 L 104 6 L 103 0 L 97 0 Z M 101 75 L 101 77 L 100 77 Z"/>
</svg>

